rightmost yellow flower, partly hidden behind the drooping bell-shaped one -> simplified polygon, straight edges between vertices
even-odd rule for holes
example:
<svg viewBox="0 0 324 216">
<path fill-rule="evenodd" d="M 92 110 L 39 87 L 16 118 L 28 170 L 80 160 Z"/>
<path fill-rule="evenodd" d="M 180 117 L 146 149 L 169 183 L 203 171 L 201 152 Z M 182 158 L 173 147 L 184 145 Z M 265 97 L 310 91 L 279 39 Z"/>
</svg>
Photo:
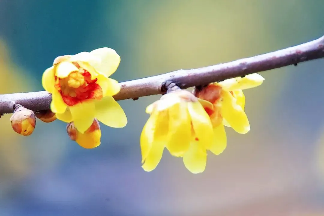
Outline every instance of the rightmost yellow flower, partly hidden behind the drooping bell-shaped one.
<svg viewBox="0 0 324 216">
<path fill-rule="evenodd" d="M 249 132 L 250 124 L 244 112 L 245 96 L 242 90 L 259 86 L 263 80 L 259 74 L 249 74 L 211 83 L 201 90 L 195 89 L 194 95 L 214 105 L 214 111 L 209 112 L 214 127 L 225 125 L 245 134 Z M 218 136 L 226 136 L 225 131 L 219 132 Z"/>
</svg>

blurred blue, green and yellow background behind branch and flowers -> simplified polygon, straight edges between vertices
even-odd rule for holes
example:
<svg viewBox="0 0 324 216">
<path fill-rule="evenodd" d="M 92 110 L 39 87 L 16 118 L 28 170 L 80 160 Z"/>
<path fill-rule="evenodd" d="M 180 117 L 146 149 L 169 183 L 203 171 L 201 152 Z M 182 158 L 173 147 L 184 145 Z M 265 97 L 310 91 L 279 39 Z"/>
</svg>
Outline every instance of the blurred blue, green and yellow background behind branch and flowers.
<svg viewBox="0 0 324 216">
<path fill-rule="evenodd" d="M 55 57 L 111 47 L 112 78 L 132 80 L 225 63 L 324 34 L 323 0 L 0 0 L 0 94 L 43 90 Z M 248 89 L 251 131 L 191 174 L 165 151 L 141 168 L 145 107 L 120 101 L 123 129 L 101 125 L 83 149 L 65 124 L 37 121 L 29 137 L 0 119 L 0 215 L 324 215 L 324 60 L 260 74 Z"/>
</svg>

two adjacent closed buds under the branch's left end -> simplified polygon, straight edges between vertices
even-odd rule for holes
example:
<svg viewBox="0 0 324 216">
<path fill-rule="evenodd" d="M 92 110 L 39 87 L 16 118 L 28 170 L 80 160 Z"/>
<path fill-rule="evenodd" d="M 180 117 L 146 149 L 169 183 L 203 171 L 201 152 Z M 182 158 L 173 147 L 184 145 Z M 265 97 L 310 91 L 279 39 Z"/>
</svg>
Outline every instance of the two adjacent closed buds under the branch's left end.
<svg viewBox="0 0 324 216">
<path fill-rule="evenodd" d="M 29 136 L 36 127 L 36 117 L 43 122 L 49 123 L 56 119 L 51 110 L 33 112 L 21 105 L 14 105 L 14 114 L 10 117 L 12 129 L 23 136 Z"/>
</svg>

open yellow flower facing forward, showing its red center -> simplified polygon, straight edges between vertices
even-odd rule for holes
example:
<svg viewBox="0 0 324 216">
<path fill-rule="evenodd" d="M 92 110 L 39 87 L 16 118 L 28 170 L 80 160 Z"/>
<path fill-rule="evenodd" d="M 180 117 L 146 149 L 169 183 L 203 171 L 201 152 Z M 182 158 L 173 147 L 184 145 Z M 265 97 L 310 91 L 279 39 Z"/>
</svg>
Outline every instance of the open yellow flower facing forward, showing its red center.
<svg viewBox="0 0 324 216">
<path fill-rule="evenodd" d="M 120 85 L 109 78 L 119 63 L 120 56 L 107 47 L 57 57 L 42 77 L 44 89 L 52 93 L 51 110 L 56 118 L 73 121 L 81 133 L 94 118 L 110 127 L 124 127 L 126 115 L 112 97 Z"/>
</svg>

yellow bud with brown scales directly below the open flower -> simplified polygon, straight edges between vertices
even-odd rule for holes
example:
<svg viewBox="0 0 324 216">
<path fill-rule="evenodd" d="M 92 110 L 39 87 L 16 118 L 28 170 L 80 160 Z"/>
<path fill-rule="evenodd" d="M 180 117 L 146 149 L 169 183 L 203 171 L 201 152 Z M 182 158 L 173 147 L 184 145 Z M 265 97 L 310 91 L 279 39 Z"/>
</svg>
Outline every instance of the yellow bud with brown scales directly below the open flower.
<svg viewBox="0 0 324 216">
<path fill-rule="evenodd" d="M 76 130 L 73 122 L 67 124 L 66 132 L 71 140 L 75 141 L 83 148 L 91 149 L 100 145 L 101 130 L 97 119 L 93 120 L 90 128 L 84 133 Z"/>
</svg>

